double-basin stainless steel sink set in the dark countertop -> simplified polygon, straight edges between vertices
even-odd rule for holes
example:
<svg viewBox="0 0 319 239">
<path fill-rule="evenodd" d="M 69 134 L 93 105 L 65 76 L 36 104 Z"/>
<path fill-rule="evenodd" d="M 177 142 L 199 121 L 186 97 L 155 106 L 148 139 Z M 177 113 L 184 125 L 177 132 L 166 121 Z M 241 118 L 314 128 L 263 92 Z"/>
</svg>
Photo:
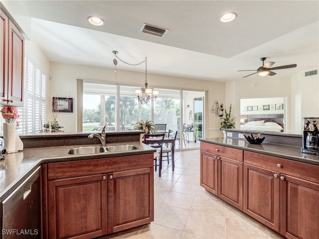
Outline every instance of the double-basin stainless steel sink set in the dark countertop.
<svg viewBox="0 0 319 239">
<path fill-rule="evenodd" d="M 70 148 L 67 154 L 73 155 L 84 155 L 84 154 L 97 154 L 97 153 L 108 153 L 108 152 L 125 152 L 140 149 L 138 146 L 133 144 L 121 144 L 121 145 L 110 145 L 110 146 L 82 146 Z"/>
</svg>

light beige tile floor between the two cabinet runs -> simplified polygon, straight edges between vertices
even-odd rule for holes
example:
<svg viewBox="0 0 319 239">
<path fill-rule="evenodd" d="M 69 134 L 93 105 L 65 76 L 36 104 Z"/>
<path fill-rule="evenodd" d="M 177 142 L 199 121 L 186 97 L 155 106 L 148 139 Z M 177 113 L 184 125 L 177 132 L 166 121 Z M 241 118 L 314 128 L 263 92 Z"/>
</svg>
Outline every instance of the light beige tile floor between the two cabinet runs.
<svg viewBox="0 0 319 239">
<path fill-rule="evenodd" d="M 282 239 L 199 186 L 199 150 L 175 152 L 154 177 L 155 219 L 103 239 Z"/>
</svg>

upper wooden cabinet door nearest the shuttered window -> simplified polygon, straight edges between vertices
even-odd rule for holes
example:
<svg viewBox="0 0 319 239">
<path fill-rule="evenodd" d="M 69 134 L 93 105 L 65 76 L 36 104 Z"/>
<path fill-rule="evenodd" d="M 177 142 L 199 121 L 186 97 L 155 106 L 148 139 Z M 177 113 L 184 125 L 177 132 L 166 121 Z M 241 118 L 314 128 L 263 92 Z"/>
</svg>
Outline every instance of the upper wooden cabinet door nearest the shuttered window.
<svg viewBox="0 0 319 239">
<path fill-rule="evenodd" d="M 9 21 L 8 104 L 23 106 L 24 38 Z"/>
</svg>

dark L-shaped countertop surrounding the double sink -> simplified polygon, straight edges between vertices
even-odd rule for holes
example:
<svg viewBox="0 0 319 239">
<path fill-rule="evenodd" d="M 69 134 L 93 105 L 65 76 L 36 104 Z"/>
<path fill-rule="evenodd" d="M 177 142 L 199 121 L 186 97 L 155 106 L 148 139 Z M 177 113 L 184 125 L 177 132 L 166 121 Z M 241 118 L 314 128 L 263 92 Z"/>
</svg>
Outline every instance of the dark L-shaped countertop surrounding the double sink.
<svg viewBox="0 0 319 239">
<path fill-rule="evenodd" d="M 117 156 L 128 156 L 155 152 L 155 149 L 140 142 L 110 143 L 134 144 L 139 147 L 137 150 L 125 152 L 107 152 L 90 155 L 68 155 L 68 149 L 77 146 L 96 146 L 92 145 L 67 145 L 55 147 L 24 148 L 23 151 L 4 155 L 0 161 L 0 201 L 23 182 L 33 170 L 42 163 L 64 162 L 73 160 L 90 160 L 94 158 L 109 158 Z"/>
</svg>

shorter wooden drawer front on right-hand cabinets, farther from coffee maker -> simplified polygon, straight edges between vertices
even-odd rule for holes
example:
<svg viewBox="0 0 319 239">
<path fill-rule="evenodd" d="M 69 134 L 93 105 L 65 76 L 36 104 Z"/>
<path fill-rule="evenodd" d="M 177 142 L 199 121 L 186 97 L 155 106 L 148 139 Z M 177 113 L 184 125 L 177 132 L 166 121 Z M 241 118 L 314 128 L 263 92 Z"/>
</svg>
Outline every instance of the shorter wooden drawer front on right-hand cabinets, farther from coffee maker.
<svg viewBox="0 0 319 239">
<path fill-rule="evenodd" d="M 243 150 L 221 146 L 213 143 L 200 142 L 200 150 L 218 154 L 227 158 L 243 161 Z"/>
</svg>

